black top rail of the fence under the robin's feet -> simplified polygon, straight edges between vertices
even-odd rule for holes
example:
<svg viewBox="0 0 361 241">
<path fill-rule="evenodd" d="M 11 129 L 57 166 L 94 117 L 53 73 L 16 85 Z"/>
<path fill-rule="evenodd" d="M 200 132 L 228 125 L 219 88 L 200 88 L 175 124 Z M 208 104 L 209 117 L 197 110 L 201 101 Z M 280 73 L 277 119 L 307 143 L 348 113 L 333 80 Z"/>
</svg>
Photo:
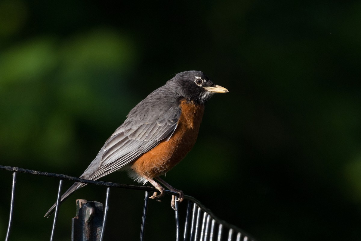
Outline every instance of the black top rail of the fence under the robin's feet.
<svg viewBox="0 0 361 241">
<path fill-rule="evenodd" d="M 5 170 L 5 171 L 12 171 L 12 172 L 17 172 L 17 173 L 29 173 L 32 175 L 38 175 L 38 176 L 45 176 L 45 177 L 55 177 L 55 178 L 60 178 L 60 179 L 66 179 L 66 180 L 70 180 L 70 181 L 76 181 L 76 182 L 83 182 L 83 183 L 87 183 L 87 184 L 95 184 L 95 185 L 101 185 L 101 186 L 107 186 L 107 187 L 112 187 L 112 188 L 123 188 L 123 189 L 133 189 L 133 190 L 143 190 L 143 191 L 158 191 L 156 188 L 152 188 L 150 186 L 138 186 L 138 185 L 128 185 L 128 184 L 120 184 L 120 183 L 114 183 L 114 182 L 104 182 L 104 181 L 94 181 L 94 180 L 86 180 L 86 179 L 82 179 L 82 178 L 78 178 L 78 177 L 73 177 L 73 176 L 68 176 L 68 175 L 64 175 L 64 174 L 57 174 L 57 173 L 51 173 L 51 172 L 41 172 L 41 171 L 34 171 L 34 170 L 30 170 L 30 169 L 25 169 L 25 168 L 19 168 L 19 167 L 10 167 L 10 166 L 4 166 L 4 165 L 0 165 L 0 170 Z M 178 197 L 178 193 L 174 192 L 174 191 L 170 191 L 170 190 L 165 190 L 164 191 L 167 194 L 170 195 L 175 195 Z M 197 199 L 195 199 L 192 196 L 188 196 L 188 195 L 184 195 L 184 199 L 187 199 L 193 203 L 195 203 L 198 207 L 201 208 L 201 210 L 203 210 L 204 212 L 206 212 L 208 215 L 210 215 L 214 220 L 216 220 L 219 224 L 224 225 L 225 227 L 229 228 L 229 229 L 233 229 L 236 232 L 242 233 L 247 235 L 249 238 L 251 238 L 252 240 L 254 240 L 252 238 L 252 236 L 248 235 L 246 232 L 244 232 L 242 229 L 236 227 L 235 225 L 232 225 L 230 223 L 227 223 L 226 221 L 219 219 L 216 215 L 213 214 L 212 211 L 210 211 L 208 208 L 206 208 L 200 201 L 198 201 Z"/>
</svg>

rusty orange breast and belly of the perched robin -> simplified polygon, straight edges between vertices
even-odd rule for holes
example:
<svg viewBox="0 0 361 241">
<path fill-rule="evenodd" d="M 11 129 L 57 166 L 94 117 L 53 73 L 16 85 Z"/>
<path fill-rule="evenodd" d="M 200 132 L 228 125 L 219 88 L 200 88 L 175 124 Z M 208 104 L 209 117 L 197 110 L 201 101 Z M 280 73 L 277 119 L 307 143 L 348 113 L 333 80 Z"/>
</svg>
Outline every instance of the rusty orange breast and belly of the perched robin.
<svg viewBox="0 0 361 241">
<path fill-rule="evenodd" d="M 144 153 L 131 163 L 130 168 L 138 175 L 155 178 L 173 168 L 192 149 L 198 136 L 204 105 L 195 105 L 183 100 L 177 129 L 169 141 L 161 141 L 155 148 Z"/>
</svg>

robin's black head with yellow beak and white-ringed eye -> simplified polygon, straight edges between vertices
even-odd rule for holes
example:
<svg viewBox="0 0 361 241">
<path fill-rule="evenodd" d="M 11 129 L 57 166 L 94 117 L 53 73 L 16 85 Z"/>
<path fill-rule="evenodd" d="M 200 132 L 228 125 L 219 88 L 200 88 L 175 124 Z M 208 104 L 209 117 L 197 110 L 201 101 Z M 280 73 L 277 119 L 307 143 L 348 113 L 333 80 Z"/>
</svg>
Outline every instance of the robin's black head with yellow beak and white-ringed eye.
<svg viewBox="0 0 361 241">
<path fill-rule="evenodd" d="M 205 103 L 214 93 L 227 93 L 226 88 L 215 85 L 203 72 L 190 70 L 178 73 L 167 84 L 174 88 L 179 98 L 195 103 Z"/>
</svg>

